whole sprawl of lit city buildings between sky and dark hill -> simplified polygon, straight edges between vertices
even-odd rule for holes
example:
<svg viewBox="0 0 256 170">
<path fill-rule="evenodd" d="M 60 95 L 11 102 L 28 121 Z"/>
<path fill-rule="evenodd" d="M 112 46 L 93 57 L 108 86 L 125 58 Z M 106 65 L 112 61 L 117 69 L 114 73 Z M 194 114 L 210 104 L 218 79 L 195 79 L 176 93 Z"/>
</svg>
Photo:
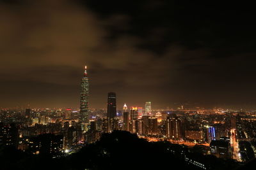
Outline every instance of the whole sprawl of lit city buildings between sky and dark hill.
<svg viewBox="0 0 256 170">
<path fill-rule="evenodd" d="M 106 108 L 88 108 L 87 71 L 81 81 L 80 109 L 10 108 L 0 110 L 0 144 L 33 154 L 60 157 L 95 143 L 102 134 L 128 131 L 148 141 L 168 141 L 188 148 L 199 147 L 204 155 L 246 161 L 256 153 L 255 111 L 221 108 L 153 109 L 151 102 L 122 109 L 116 93 L 109 92 Z M 185 152 L 184 152 L 185 153 Z M 200 160 L 184 154 L 188 164 L 207 169 Z"/>
</svg>

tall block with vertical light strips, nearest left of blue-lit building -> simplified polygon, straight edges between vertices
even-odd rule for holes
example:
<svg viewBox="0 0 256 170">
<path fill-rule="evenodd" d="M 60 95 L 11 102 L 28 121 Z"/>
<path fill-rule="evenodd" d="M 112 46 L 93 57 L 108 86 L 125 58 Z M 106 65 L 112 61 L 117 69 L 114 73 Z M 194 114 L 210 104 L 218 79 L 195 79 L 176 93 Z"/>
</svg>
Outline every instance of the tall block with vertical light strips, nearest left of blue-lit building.
<svg viewBox="0 0 256 170">
<path fill-rule="evenodd" d="M 166 119 L 166 136 L 173 139 L 182 138 L 181 122 L 175 115 Z"/>
</svg>

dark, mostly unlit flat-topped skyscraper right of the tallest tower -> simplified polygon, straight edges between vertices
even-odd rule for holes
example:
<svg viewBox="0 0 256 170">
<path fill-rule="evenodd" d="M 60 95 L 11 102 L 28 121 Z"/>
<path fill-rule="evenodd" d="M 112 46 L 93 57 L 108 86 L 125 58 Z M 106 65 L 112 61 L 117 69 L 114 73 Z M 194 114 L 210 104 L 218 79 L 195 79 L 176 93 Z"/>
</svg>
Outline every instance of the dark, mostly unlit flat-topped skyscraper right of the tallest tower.
<svg viewBox="0 0 256 170">
<path fill-rule="evenodd" d="M 116 117 L 116 94 L 114 92 L 108 93 L 108 118 Z"/>
</svg>

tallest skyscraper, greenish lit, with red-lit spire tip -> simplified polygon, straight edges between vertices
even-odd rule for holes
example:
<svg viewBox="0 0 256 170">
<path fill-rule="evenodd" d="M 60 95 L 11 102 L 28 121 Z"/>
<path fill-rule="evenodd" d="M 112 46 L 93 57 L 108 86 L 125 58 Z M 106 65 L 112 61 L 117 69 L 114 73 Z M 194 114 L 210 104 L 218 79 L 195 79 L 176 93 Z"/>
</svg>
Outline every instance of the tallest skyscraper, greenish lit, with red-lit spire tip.
<svg viewBox="0 0 256 170">
<path fill-rule="evenodd" d="M 80 99 L 80 117 L 79 120 L 84 124 L 89 124 L 88 97 L 89 80 L 87 76 L 87 67 L 85 66 L 84 76 L 81 81 L 81 99 Z"/>
</svg>

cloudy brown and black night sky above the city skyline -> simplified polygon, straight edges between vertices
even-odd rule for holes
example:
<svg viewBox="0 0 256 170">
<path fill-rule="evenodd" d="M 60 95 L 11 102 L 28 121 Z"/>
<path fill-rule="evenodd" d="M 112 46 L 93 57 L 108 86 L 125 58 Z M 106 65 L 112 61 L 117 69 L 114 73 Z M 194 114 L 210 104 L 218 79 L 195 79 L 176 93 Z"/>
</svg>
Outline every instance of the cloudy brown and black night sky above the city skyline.
<svg viewBox="0 0 256 170">
<path fill-rule="evenodd" d="M 0 108 L 78 108 L 84 65 L 90 108 L 255 107 L 255 9 L 232 3 L 0 0 Z"/>
</svg>

